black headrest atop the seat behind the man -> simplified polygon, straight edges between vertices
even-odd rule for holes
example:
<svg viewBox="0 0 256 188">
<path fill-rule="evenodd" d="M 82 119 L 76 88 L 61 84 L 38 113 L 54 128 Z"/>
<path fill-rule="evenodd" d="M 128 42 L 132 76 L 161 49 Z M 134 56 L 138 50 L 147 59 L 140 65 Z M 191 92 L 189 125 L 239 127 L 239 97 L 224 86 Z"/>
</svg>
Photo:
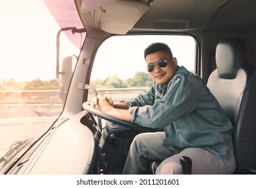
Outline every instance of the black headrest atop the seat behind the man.
<svg viewBox="0 0 256 188">
<path fill-rule="evenodd" d="M 220 78 L 236 78 L 239 68 L 248 62 L 247 48 L 241 38 L 226 38 L 217 44 L 216 66 Z"/>
</svg>

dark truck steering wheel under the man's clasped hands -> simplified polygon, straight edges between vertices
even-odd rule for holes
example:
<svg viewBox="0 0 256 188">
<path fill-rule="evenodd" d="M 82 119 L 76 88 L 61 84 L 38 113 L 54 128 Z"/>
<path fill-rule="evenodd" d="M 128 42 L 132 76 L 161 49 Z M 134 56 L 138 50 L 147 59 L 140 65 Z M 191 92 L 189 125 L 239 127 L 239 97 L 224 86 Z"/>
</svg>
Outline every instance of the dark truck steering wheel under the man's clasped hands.
<svg viewBox="0 0 256 188">
<path fill-rule="evenodd" d="M 92 88 L 93 87 L 91 87 L 91 86 L 90 87 L 87 86 L 87 89 L 92 89 Z M 95 94 L 97 94 L 97 92 L 94 88 L 93 88 L 93 91 L 94 91 Z M 113 115 L 110 115 L 108 113 L 104 113 L 103 111 L 99 111 L 98 109 L 95 109 L 95 108 L 91 107 L 89 102 L 83 103 L 83 109 L 85 109 L 85 111 L 87 111 L 87 112 L 89 112 L 93 115 L 96 115 L 99 118 L 103 118 L 104 120 L 108 120 L 110 122 L 113 122 L 114 124 L 122 125 L 122 126 L 125 126 L 125 127 L 128 127 L 128 128 L 132 128 L 132 129 L 135 129 L 135 130 L 142 131 L 142 132 L 155 132 L 156 131 L 153 128 L 146 128 L 146 127 L 140 126 L 139 124 L 136 124 L 134 122 L 129 122 L 129 121 L 126 121 L 126 120 L 122 120 L 121 118 L 116 118 Z"/>
</svg>

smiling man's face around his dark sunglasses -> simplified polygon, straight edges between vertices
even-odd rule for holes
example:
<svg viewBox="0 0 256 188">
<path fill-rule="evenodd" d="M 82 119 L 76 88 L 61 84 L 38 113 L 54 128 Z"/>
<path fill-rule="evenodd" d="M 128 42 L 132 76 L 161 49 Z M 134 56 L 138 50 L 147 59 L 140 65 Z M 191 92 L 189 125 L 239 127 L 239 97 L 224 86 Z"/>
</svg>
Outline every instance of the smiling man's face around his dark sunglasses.
<svg viewBox="0 0 256 188">
<path fill-rule="evenodd" d="M 167 60 L 167 66 L 160 67 L 155 64 L 154 70 L 149 73 L 149 75 L 155 83 L 158 83 L 159 85 L 167 85 L 169 81 L 171 81 L 171 79 L 173 78 L 173 75 L 175 75 L 177 68 L 177 59 L 171 59 L 169 54 L 163 51 L 159 51 L 153 54 L 148 54 L 145 60 L 146 64 L 149 64 L 151 62 L 157 62 L 157 60 L 160 59 Z"/>
</svg>

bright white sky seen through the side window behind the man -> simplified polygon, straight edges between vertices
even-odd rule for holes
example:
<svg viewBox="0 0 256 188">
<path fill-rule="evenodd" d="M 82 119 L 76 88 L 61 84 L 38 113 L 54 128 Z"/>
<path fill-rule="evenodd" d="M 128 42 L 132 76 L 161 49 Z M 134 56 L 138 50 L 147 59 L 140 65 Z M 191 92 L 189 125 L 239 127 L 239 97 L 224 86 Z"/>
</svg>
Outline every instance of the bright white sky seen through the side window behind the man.
<svg viewBox="0 0 256 188">
<path fill-rule="evenodd" d="M 168 44 L 178 64 L 189 71 L 194 70 L 195 41 L 190 36 L 118 36 L 109 38 L 99 48 L 91 79 L 97 79 L 99 75 L 101 79 L 109 75 L 128 79 L 136 72 L 146 72 L 144 49 L 153 42 Z M 108 62 L 114 65 L 110 66 Z"/>
</svg>

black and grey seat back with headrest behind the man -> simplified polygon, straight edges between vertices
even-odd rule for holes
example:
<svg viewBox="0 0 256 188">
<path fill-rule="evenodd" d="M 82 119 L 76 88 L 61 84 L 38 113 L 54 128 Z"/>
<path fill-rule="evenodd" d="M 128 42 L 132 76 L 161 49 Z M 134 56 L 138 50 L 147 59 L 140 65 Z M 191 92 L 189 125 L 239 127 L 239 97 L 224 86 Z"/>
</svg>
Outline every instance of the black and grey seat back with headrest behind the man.
<svg viewBox="0 0 256 188">
<path fill-rule="evenodd" d="M 220 40 L 208 87 L 234 126 L 236 173 L 256 172 L 256 68 L 241 38 Z"/>
</svg>

